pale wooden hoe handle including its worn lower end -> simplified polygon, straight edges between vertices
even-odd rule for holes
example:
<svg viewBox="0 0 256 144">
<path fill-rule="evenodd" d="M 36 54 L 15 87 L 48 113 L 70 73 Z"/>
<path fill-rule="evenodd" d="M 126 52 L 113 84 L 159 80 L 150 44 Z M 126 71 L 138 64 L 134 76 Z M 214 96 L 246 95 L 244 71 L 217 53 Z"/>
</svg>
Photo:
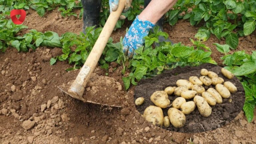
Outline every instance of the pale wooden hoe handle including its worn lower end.
<svg viewBox="0 0 256 144">
<path fill-rule="evenodd" d="M 119 0 L 118 9 L 109 15 L 107 22 L 99 35 L 99 38 L 97 39 L 95 45 L 92 48 L 91 53 L 89 54 L 75 81 L 68 89 L 69 95 L 73 98 L 85 101 L 85 99 L 83 98 L 83 93 L 86 83 L 90 79 L 90 76 L 98 63 L 100 56 L 104 48 L 106 47 L 111 33 L 113 32 L 113 29 L 124 9 L 124 4 L 125 0 Z"/>
</svg>

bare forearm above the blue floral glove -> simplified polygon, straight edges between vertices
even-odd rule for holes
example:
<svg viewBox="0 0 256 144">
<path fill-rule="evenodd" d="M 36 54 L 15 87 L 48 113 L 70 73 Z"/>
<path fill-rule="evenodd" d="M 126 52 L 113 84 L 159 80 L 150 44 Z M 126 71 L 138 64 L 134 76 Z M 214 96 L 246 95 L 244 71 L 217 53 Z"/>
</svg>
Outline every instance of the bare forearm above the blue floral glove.
<svg viewBox="0 0 256 144">
<path fill-rule="evenodd" d="M 153 24 L 168 12 L 177 0 L 152 0 L 148 6 L 138 16 L 141 20 L 150 21 Z"/>
</svg>

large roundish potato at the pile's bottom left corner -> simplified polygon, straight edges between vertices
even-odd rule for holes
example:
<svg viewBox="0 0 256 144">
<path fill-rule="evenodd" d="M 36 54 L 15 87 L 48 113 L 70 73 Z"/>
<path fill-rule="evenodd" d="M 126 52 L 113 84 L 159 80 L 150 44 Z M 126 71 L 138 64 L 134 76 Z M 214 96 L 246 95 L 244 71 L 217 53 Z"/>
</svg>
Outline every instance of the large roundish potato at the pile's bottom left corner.
<svg viewBox="0 0 256 144">
<path fill-rule="evenodd" d="M 143 117 L 155 126 L 162 127 L 164 122 L 164 114 L 160 107 L 149 106 L 145 109 Z"/>
</svg>

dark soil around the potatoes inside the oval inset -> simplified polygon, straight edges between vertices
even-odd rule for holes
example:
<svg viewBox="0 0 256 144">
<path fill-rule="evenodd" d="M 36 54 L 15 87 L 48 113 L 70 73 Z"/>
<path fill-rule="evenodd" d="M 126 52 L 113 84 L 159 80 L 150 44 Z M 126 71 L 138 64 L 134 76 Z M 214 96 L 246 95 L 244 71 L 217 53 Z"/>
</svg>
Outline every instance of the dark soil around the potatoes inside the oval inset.
<svg viewBox="0 0 256 144">
<path fill-rule="evenodd" d="M 206 68 L 217 73 L 219 77 L 224 79 L 224 81 L 232 82 L 236 85 L 238 92 L 231 94 L 230 98 L 228 99 L 223 99 L 222 104 L 216 104 L 215 106 L 212 106 L 212 114 L 209 117 L 202 117 L 196 108 L 191 114 L 186 115 L 186 124 L 183 128 L 175 128 L 171 125 L 166 129 L 176 132 L 196 133 L 214 130 L 224 126 L 225 124 L 228 124 L 242 110 L 245 100 L 244 89 L 237 78 L 233 78 L 231 80 L 227 79 L 224 75 L 222 75 L 221 67 L 212 64 L 203 64 L 198 67 L 178 67 L 173 70 L 166 71 L 165 73 L 154 78 L 141 80 L 138 86 L 135 88 L 134 100 L 138 97 L 144 97 L 145 102 L 143 105 L 137 106 L 138 111 L 143 114 L 146 107 L 154 105 L 154 103 L 150 101 L 150 96 L 153 94 L 153 92 L 164 90 L 168 86 L 176 86 L 176 81 L 178 79 L 188 80 L 190 76 L 199 77 L 200 70 L 202 68 Z M 204 87 L 205 90 L 207 90 L 213 86 L 210 85 Z M 170 95 L 169 99 L 171 100 L 171 103 L 177 97 L 178 96 L 175 96 L 174 94 Z M 232 101 L 229 102 L 229 99 Z M 193 99 L 187 101 L 193 101 Z M 164 116 L 167 116 L 168 109 L 169 108 L 163 109 Z"/>
</svg>

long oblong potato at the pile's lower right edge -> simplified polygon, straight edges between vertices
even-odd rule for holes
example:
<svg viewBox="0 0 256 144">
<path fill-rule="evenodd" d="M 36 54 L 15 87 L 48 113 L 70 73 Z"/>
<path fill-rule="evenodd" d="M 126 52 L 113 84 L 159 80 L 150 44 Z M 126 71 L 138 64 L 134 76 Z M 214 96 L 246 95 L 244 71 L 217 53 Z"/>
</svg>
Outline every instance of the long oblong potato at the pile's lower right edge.
<svg viewBox="0 0 256 144">
<path fill-rule="evenodd" d="M 202 116 L 208 117 L 211 115 L 212 108 L 203 97 L 196 95 L 194 97 L 194 102 Z"/>
</svg>

